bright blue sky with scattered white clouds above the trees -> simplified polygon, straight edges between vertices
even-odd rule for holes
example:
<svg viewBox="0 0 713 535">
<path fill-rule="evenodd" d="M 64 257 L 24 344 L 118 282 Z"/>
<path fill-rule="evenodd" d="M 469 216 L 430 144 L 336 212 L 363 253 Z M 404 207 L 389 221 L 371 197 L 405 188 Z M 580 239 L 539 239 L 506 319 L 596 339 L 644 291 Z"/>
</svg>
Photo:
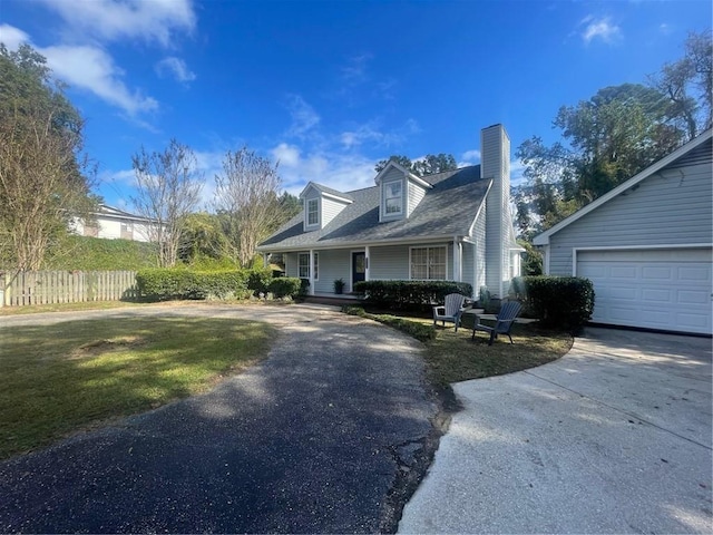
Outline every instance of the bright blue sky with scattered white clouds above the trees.
<svg viewBox="0 0 713 535">
<path fill-rule="evenodd" d="M 130 210 L 131 155 L 172 137 L 197 154 L 206 203 L 243 145 L 299 194 L 373 185 L 391 154 L 478 163 L 496 123 L 512 154 L 550 143 L 560 106 L 644 82 L 712 17 L 710 0 L 0 0 L 0 41 L 69 84 L 97 193 Z"/>
</svg>

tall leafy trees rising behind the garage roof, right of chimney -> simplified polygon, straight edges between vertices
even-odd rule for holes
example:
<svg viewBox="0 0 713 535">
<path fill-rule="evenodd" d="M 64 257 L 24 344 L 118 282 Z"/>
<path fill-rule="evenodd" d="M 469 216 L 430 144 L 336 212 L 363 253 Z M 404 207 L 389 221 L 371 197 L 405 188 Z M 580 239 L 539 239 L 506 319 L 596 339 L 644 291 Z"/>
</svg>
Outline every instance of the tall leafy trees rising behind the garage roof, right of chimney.
<svg viewBox="0 0 713 535">
<path fill-rule="evenodd" d="M 555 225 L 678 147 L 685 134 L 667 109 L 661 91 L 634 84 L 563 106 L 554 126 L 564 143 L 545 146 L 535 136 L 516 152 L 527 178 L 515 195 L 522 235 Z M 528 208 L 534 217 L 526 217 Z"/>
</svg>

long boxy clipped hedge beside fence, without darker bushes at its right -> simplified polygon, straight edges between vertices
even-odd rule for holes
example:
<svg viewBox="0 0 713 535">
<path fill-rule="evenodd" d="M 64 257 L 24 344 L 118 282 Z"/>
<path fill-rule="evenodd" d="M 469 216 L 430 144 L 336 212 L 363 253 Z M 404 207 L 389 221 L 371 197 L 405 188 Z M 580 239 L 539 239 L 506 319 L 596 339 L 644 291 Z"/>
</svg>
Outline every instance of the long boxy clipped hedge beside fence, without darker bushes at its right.
<svg viewBox="0 0 713 535">
<path fill-rule="evenodd" d="M 136 273 L 136 284 L 139 295 L 152 301 L 208 296 L 244 299 L 248 295 L 244 271 L 141 270 Z"/>
</svg>

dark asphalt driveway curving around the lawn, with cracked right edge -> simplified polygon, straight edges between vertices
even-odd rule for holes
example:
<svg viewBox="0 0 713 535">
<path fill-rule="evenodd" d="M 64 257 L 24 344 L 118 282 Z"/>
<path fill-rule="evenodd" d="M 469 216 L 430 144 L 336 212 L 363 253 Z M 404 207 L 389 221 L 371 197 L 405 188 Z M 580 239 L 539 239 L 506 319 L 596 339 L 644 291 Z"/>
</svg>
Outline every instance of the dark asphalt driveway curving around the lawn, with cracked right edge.
<svg viewBox="0 0 713 535">
<path fill-rule="evenodd" d="M 264 320 L 280 334 L 265 361 L 207 395 L 0 464 L 0 532 L 395 528 L 438 437 L 417 342 L 306 305 L 7 317 L 0 337 L 21 324 L 146 314 Z"/>
</svg>

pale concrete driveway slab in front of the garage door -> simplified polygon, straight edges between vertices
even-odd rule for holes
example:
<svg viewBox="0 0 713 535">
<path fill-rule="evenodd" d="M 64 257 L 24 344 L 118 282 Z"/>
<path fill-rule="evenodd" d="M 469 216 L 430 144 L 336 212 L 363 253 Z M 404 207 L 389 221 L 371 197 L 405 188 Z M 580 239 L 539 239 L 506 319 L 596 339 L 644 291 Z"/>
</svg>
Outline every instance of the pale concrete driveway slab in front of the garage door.
<svg viewBox="0 0 713 535">
<path fill-rule="evenodd" d="M 399 533 L 713 533 L 710 339 L 587 329 L 455 390 Z"/>
</svg>

